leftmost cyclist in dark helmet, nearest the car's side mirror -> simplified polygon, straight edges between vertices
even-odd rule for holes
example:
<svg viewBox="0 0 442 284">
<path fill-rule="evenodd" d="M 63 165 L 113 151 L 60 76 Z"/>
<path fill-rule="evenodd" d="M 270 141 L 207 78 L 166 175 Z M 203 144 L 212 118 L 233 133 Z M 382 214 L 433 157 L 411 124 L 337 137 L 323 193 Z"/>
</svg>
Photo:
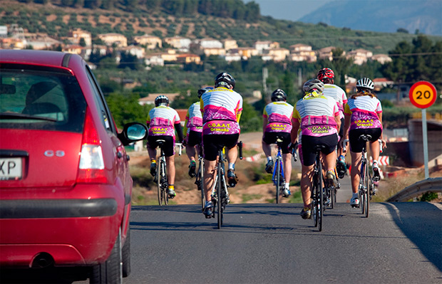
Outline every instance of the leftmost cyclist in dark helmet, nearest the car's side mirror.
<svg viewBox="0 0 442 284">
<path fill-rule="evenodd" d="M 172 107 L 169 107 L 169 99 L 165 95 L 155 98 L 155 107 L 150 110 L 146 125 L 149 128 L 148 152 L 150 157 L 150 174 L 155 176 L 157 169 L 157 140 L 165 140 L 164 154 L 168 163 L 168 188 L 169 198 L 175 197 L 175 130 L 178 133 L 180 143 L 183 142 L 183 128 L 180 116 Z"/>
</svg>

